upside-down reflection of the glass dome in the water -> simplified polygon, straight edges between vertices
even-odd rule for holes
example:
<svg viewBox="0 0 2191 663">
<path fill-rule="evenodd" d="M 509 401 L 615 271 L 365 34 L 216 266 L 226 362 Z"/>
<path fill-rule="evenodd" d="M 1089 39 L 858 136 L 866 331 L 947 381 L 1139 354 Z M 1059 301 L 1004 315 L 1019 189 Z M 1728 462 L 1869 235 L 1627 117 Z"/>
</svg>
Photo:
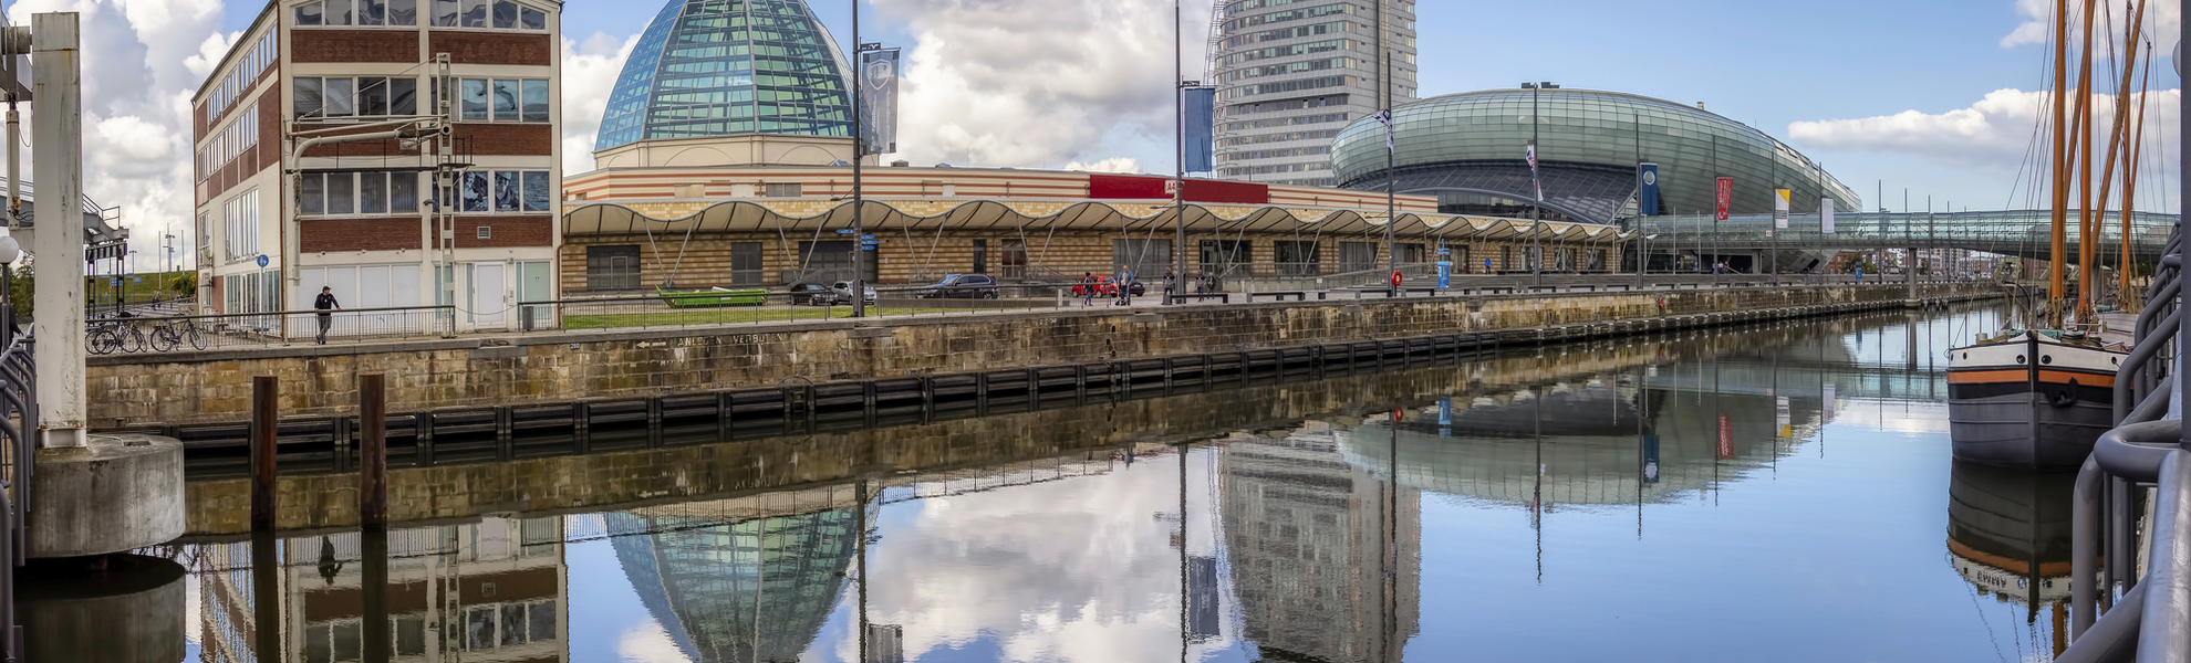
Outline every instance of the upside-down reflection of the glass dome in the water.
<svg viewBox="0 0 2191 663">
<path fill-rule="evenodd" d="M 870 501 L 870 516 L 876 501 Z M 695 663 L 798 661 L 859 551 L 852 486 L 611 512 L 640 602 Z"/>
</svg>

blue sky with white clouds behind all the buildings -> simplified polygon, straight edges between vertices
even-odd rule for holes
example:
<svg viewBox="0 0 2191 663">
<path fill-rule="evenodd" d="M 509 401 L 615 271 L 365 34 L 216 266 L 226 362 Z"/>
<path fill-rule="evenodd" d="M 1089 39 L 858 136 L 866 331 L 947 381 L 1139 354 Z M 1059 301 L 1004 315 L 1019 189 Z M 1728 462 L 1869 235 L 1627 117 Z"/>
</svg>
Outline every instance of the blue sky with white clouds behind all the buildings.
<svg viewBox="0 0 2191 663">
<path fill-rule="evenodd" d="M 815 13 L 850 42 L 850 2 Z M 1181 0 L 1201 79 L 1209 0 Z M 2027 149 L 2046 105 L 2046 0 L 1420 2 L 1422 96 L 1553 81 L 1709 112 L 1786 140 L 1871 208 L 2027 208 Z M 2073 2 L 2075 4 L 2075 2 Z M 2106 2 L 2101 2 L 2106 7 Z M 121 206 L 134 247 L 188 234 L 188 98 L 265 9 L 245 0 L 15 0 L 11 18 L 81 11 L 85 188 Z M 565 173 L 594 131 L 655 2 L 563 4 Z M 914 164 L 1172 171 L 1172 2 L 863 0 L 861 42 L 907 50 L 901 153 Z M 2108 9 L 2117 24 L 2130 9 Z M 2176 210 L 2176 2 L 2147 22 L 2141 208 Z M 2101 66 L 2099 70 L 2106 70 Z M 2110 77 L 2097 77 L 2110 79 Z M 2101 85 L 2114 88 L 2112 79 Z M 2110 96 L 2112 103 L 2112 96 Z M 2108 129 L 2101 107 L 2097 133 Z M 2022 177 L 2020 177 L 2022 171 Z M 1884 190 L 1884 195 L 1880 195 Z M 186 239 L 184 239 L 186 241 Z"/>
</svg>

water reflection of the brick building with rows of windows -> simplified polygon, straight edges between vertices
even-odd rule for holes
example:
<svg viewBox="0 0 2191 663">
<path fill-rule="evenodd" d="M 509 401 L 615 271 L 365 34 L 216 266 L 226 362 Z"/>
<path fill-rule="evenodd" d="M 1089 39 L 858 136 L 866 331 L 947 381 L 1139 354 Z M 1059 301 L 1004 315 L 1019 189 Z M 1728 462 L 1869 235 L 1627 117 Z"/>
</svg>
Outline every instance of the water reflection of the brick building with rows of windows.
<svg viewBox="0 0 2191 663">
<path fill-rule="evenodd" d="M 364 656 L 357 532 L 285 538 L 283 652 L 259 656 L 250 543 L 202 547 L 199 661 L 333 663 Z M 261 575 L 265 578 L 265 575 Z M 482 519 L 388 532 L 392 661 L 567 661 L 563 519 Z"/>
</svg>

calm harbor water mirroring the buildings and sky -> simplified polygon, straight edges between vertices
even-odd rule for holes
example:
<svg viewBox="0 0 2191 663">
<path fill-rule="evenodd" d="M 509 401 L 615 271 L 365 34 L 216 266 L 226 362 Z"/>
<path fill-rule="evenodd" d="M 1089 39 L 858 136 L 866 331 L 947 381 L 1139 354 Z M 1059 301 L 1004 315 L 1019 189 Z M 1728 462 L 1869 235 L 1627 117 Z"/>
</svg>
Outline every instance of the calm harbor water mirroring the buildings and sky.
<svg viewBox="0 0 2191 663">
<path fill-rule="evenodd" d="M 199 534 L 156 554 L 186 571 L 186 661 L 2051 659 L 2068 475 L 1948 457 L 1939 354 L 1994 319 L 596 446 L 546 479 L 399 470 L 480 505 L 254 545 L 193 503 Z M 638 488 L 526 508 L 596 479 Z"/>
</svg>

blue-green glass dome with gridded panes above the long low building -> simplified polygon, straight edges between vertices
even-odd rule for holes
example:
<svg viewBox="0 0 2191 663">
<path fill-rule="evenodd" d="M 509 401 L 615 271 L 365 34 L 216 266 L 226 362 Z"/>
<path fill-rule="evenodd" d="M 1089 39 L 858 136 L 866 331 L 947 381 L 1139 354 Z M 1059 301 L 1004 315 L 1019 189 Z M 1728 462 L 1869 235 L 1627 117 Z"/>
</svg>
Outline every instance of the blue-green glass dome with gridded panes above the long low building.
<svg viewBox="0 0 2191 663">
<path fill-rule="evenodd" d="M 800 0 L 670 0 L 609 92 L 594 151 L 655 138 L 852 136 L 844 53 Z"/>
</svg>

